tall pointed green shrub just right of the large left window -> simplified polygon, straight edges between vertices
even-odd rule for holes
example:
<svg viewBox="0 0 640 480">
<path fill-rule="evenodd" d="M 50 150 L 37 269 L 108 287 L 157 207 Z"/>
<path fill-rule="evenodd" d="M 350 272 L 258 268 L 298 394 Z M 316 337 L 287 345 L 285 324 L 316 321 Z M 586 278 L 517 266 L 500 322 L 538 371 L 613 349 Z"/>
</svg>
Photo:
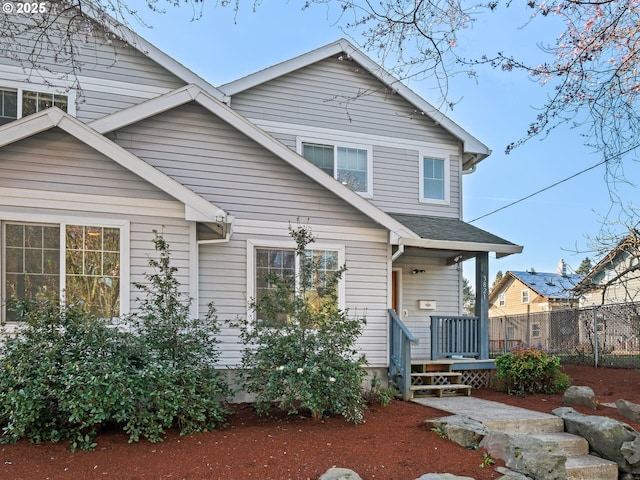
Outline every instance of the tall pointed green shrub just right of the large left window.
<svg viewBox="0 0 640 480">
<path fill-rule="evenodd" d="M 138 401 L 125 425 L 132 440 L 159 441 L 174 426 L 181 434 L 210 430 L 229 414 L 230 391 L 215 368 L 220 357 L 215 309 L 209 305 L 204 319 L 190 318 L 191 299 L 180 292 L 169 245 L 159 235 L 154 245 L 160 258 L 149 260 L 154 272 L 145 275 L 147 283 L 136 284 L 146 296 L 128 319 L 143 360 Z"/>
</svg>

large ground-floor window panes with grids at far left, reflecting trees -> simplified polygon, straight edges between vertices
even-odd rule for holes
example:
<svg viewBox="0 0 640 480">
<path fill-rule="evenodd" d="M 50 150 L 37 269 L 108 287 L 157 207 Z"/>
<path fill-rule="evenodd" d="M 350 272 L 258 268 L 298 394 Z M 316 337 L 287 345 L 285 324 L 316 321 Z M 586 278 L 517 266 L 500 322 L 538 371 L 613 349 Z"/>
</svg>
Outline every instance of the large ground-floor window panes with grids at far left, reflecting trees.
<svg viewBox="0 0 640 480">
<path fill-rule="evenodd" d="M 120 227 L 2 222 L 4 321 L 19 300 L 82 302 L 100 318 L 120 316 Z"/>
</svg>

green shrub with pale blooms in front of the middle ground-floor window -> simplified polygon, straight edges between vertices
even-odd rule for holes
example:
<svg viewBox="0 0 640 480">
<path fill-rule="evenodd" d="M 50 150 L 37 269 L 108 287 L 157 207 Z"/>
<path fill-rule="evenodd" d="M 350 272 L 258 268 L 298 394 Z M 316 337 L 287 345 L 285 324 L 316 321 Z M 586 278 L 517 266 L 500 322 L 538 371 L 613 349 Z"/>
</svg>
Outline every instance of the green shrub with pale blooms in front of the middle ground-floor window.
<svg viewBox="0 0 640 480">
<path fill-rule="evenodd" d="M 340 414 L 359 423 L 366 360 L 355 343 L 364 319 L 349 317 L 337 306 L 345 267 L 323 276 L 307 250 L 314 240 L 310 231 L 298 227 L 291 235 L 299 274 L 269 275 L 265 280 L 271 288 L 250 304 L 253 317 L 232 322 L 245 345 L 243 387 L 256 395 L 260 414 L 275 403 L 289 413 L 307 408 L 316 419 Z"/>
</svg>

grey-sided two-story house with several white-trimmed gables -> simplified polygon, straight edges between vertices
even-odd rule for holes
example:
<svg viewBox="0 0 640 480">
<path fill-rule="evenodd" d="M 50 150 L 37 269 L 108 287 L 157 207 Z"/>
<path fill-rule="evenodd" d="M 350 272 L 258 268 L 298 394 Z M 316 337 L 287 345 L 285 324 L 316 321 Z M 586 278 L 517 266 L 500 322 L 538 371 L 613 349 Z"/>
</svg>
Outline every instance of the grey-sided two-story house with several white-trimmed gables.
<svg viewBox="0 0 640 480">
<path fill-rule="evenodd" d="M 347 265 L 339 305 L 366 314 L 359 348 L 372 369 L 389 367 L 391 308 L 414 358 L 436 353 L 429 317 L 461 314 L 467 259 L 486 325 L 489 252 L 522 247 L 462 221 L 462 175 L 485 145 L 345 40 L 218 90 L 114 30 L 129 44 L 79 42 L 109 60 L 78 72 L 81 91 L 55 70 L 26 82 L 0 65 L 7 104 L 43 94 L 43 108 L 9 111 L 0 127 L 2 323 L 14 326 L 14 298 L 47 289 L 108 318 L 135 309 L 154 231 L 193 315 L 212 301 L 221 319 L 250 315 L 262 271 L 296 270 L 300 222 L 326 268 Z M 220 365 L 238 365 L 238 332 L 220 341 Z"/>
</svg>

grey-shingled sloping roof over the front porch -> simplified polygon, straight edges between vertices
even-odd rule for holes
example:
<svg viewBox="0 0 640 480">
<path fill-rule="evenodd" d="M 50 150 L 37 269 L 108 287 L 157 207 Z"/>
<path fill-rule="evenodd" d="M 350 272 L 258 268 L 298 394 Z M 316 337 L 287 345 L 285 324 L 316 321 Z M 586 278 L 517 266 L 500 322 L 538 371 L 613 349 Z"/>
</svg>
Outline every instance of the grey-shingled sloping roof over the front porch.
<svg viewBox="0 0 640 480">
<path fill-rule="evenodd" d="M 522 247 L 457 218 L 391 213 L 420 235 L 422 246 L 443 250 L 495 252 L 498 258 L 522 252 Z M 410 242 L 403 242 L 409 245 Z"/>
</svg>

